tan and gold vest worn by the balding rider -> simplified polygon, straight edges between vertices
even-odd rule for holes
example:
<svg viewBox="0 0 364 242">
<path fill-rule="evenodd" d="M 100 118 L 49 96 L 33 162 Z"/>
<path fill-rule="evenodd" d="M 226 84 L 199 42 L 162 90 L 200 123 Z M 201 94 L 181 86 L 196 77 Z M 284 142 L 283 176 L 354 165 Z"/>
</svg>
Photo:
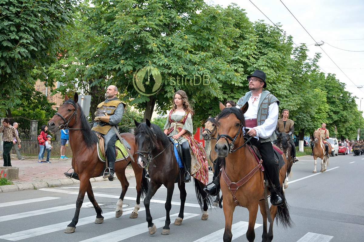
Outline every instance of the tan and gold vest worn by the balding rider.
<svg viewBox="0 0 364 242">
<path fill-rule="evenodd" d="M 114 114 L 116 107 L 118 107 L 118 105 L 122 103 L 119 100 L 111 100 L 107 103 L 102 102 L 100 103 L 97 108 L 96 108 L 96 112 L 95 112 L 95 116 L 111 116 Z M 102 124 L 100 124 L 102 123 Z M 112 125 L 108 124 L 108 123 L 103 123 L 103 122 L 99 122 L 99 124 L 95 127 L 92 128 L 92 130 L 94 131 L 98 131 L 101 134 L 106 135 L 107 132 L 112 128 Z"/>
</svg>

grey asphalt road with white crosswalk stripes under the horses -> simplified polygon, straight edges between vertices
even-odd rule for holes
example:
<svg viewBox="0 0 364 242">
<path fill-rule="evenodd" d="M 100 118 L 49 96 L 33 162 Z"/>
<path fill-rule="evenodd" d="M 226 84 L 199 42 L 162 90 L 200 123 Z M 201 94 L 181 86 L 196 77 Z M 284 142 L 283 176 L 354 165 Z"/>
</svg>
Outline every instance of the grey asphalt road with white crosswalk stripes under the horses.
<svg viewBox="0 0 364 242">
<path fill-rule="evenodd" d="M 297 242 L 361 242 L 364 231 L 364 156 L 339 155 L 330 157 L 329 167 L 320 173 L 313 171 L 313 157 L 301 157 L 293 166 L 293 176 L 286 189 L 293 226 L 284 228 L 274 223 L 273 241 Z M 212 176 L 212 174 L 211 174 Z M 201 220 L 201 210 L 192 183 L 187 184 L 185 219 L 181 226 L 173 225 L 179 212 L 172 205 L 170 235 L 161 235 L 164 225 L 166 189 L 160 188 L 151 202 L 151 214 L 157 233 L 147 232 L 146 214 L 141 204 L 139 217 L 130 219 L 135 204 L 135 180 L 124 200 L 124 214 L 115 218 L 115 207 L 121 193 L 120 183 L 93 182 L 96 200 L 103 209 L 105 220 L 95 224 L 95 210 L 85 197 L 75 233 L 63 233 L 75 212 L 78 185 L 39 190 L 0 193 L 0 242 L 5 241 L 222 241 L 225 219 L 222 209 L 208 210 L 209 219 Z M 175 186 L 173 202 L 178 203 Z M 248 210 L 238 207 L 234 212 L 233 239 L 247 241 L 245 236 Z M 258 212 L 256 241 L 261 241 L 262 218 Z"/>
</svg>

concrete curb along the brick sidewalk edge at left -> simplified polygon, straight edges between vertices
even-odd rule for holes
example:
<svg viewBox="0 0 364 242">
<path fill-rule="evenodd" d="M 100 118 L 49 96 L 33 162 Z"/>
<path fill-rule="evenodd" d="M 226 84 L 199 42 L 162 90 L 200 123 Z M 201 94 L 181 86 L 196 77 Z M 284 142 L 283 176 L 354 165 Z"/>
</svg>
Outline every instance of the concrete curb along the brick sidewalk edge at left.
<svg viewBox="0 0 364 242">
<path fill-rule="evenodd" d="M 134 174 L 125 174 L 127 179 L 135 177 Z M 114 181 L 118 180 L 115 176 Z M 95 181 L 108 181 L 108 179 L 103 179 L 102 177 L 93 177 L 90 178 L 91 182 Z M 4 185 L 0 186 L 0 192 L 13 192 L 13 191 L 21 191 L 21 190 L 30 190 L 30 189 L 40 189 L 40 188 L 47 188 L 47 187 L 57 187 L 63 185 L 73 185 L 73 184 L 80 184 L 79 180 L 75 180 L 73 178 L 65 178 L 59 180 L 48 180 L 48 181 L 37 181 L 37 182 L 23 182 L 17 183 L 13 185 Z"/>
</svg>

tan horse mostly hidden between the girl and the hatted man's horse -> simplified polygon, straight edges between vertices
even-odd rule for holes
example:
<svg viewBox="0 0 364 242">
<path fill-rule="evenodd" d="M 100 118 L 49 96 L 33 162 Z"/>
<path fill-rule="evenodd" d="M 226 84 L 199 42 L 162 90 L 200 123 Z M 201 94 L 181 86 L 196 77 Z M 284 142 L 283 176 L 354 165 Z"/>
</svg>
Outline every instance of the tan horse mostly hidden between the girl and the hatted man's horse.
<svg viewBox="0 0 364 242">
<path fill-rule="evenodd" d="M 218 162 L 217 161 L 218 156 L 217 156 L 216 151 L 214 150 L 214 147 L 216 144 L 217 134 L 218 134 L 218 129 L 219 129 L 217 126 L 215 117 L 209 117 L 205 121 L 204 126 L 205 126 L 205 128 L 203 128 L 202 138 L 204 140 L 210 140 L 211 150 L 210 150 L 209 158 L 210 158 L 210 161 L 213 163 L 213 164 L 211 164 L 212 167 L 214 167 L 215 163 Z M 214 169 L 213 169 L 213 172 L 215 173 Z M 219 200 L 220 200 L 220 192 L 216 196 L 216 199 L 215 199 L 215 201 L 213 201 L 212 205 L 217 207 Z"/>
</svg>

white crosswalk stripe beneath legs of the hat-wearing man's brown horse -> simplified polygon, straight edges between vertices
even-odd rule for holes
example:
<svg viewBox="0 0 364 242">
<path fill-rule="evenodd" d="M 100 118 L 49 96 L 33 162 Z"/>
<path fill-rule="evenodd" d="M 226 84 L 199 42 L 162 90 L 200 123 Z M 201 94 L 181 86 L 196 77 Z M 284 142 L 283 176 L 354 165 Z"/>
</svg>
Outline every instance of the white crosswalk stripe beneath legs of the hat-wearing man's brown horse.
<svg viewBox="0 0 364 242">
<path fill-rule="evenodd" d="M 240 236 L 246 234 L 246 231 L 248 231 L 248 225 L 249 225 L 249 222 L 245 222 L 245 221 L 240 221 L 240 222 L 234 223 L 231 226 L 231 232 L 233 234 L 232 240 L 239 238 Z M 256 223 L 254 225 L 254 229 L 256 229 L 257 227 L 260 227 L 260 226 L 262 226 L 262 224 Z M 205 242 L 205 241 L 219 242 L 219 241 L 222 241 L 224 231 L 225 231 L 225 229 L 217 230 L 212 234 L 206 235 L 205 237 L 195 240 L 194 242 Z"/>
</svg>

